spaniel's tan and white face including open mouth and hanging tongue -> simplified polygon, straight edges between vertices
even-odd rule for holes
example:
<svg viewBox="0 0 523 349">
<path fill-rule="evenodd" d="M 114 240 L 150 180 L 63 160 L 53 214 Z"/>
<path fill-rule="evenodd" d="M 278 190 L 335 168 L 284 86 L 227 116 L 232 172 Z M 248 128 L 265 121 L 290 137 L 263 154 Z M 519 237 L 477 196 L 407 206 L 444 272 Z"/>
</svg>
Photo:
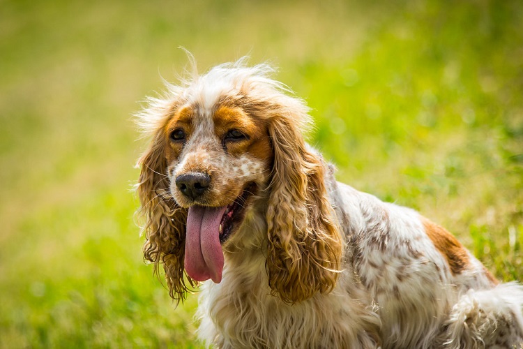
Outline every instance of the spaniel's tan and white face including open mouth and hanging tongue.
<svg viewBox="0 0 523 349">
<path fill-rule="evenodd" d="M 193 279 L 221 278 L 214 268 L 222 263 L 221 245 L 234 237 L 271 172 L 267 127 L 232 103 L 183 105 L 165 127 L 169 189 L 188 209 L 185 267 Z"/>
</svg>

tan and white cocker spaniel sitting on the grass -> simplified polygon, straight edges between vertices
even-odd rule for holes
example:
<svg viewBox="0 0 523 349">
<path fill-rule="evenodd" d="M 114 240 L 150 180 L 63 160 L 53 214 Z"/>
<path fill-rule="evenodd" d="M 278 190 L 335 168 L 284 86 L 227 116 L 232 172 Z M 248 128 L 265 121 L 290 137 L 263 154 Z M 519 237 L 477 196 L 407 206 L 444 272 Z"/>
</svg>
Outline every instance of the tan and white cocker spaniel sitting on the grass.
<svg viewBox="0 0 523 349">
<path fill-rule="evenodd" d="M 308 107 L 242 59 L 137 117 L 144 256 L 218 348 L 522 348 L 523 288 L 447 230 L 335 180 Z M 210 280 L 209 280 L 210 279 Z"/>
</svg>

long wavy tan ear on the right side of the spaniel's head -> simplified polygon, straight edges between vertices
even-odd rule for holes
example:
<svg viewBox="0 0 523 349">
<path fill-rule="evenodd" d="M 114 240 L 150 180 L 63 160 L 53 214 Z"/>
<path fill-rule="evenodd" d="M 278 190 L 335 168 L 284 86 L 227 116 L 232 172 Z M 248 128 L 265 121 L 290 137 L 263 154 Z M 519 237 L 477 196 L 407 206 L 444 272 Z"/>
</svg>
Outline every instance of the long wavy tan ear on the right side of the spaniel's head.
<svg viewBox="0 0 523 349">
<path fill-rule="evenodd" d="M 291 116 L 269 126 L 273 177 L 267 210 L 269 285 L 284 302 L 330 292 L 338 279 L 342 239 L 324 184 L 325 165 L 308 151 Z"/>
</svg>

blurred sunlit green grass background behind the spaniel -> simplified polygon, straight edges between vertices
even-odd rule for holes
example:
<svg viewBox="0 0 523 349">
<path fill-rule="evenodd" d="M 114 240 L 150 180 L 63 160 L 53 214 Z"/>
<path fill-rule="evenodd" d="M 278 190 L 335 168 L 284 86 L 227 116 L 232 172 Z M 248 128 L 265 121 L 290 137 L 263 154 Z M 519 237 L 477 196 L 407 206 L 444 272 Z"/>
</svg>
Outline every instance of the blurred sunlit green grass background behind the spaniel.
<svg viewBox="0 0 523 349">
<path fill-rule="evenodd" d="M 338 179 L 522 279 L 523 1 L 0 1 L 0 348 L 195 347 L 142 260 L 131 114 L 250 54 Z"/>
</svg>

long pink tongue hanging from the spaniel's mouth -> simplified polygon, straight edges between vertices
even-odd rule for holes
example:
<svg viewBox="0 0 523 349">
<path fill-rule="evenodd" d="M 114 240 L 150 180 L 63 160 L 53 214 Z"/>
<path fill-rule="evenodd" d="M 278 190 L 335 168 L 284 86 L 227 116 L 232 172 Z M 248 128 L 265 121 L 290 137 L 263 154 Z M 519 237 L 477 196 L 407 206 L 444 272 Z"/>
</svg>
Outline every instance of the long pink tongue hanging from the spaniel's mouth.
<svg viewBox="0 0 523 349">
<path fill-rule="evenodd" d="M 196 281 L 222 281 L 223 252 L 218 230 L 224 207 L 189 207 L 185 237 L 185 272 Z"/>
</svg>

